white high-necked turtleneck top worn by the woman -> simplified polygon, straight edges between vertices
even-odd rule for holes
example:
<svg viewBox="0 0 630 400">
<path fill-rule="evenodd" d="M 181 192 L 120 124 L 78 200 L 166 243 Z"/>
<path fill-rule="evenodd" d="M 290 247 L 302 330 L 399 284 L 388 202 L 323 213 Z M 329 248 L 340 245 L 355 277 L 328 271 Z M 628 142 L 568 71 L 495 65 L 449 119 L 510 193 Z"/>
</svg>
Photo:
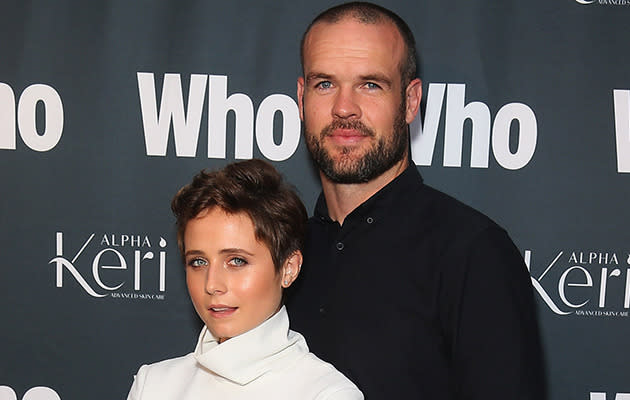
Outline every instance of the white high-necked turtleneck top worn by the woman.
<svg viewBox="0 0 630 400">
<path fill-rule="evenodd" d="M 219 344 L 204 327 L 193 353 L 140 367 L 127 400 L 362 400 L 359 389 L 309 353 L 282 307 Z"/>
</svg>

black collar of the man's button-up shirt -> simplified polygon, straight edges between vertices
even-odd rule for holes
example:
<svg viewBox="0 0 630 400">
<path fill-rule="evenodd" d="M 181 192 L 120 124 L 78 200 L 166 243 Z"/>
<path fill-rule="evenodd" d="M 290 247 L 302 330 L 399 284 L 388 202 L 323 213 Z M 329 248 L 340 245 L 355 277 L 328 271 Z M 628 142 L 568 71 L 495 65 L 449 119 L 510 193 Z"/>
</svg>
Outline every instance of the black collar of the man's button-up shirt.
<svg viewBox="0 0 630 400">
<path fill-rule="evenodd" d="M 418 172 L 418 168 L 409 160 L 407 168 L 391 182 L 385 185 L 381 190 L 374 193 L 369 199 L 361 203 L 357 208 L 352 210 L 345 218 L 345 221 L 352 220 L 355 217 L 361 217 L 366 214 L 382 214 L 382 210 L 389 208 L 389 205 L 398 196 L 405 195 L 411 187 L 422 184 L 422 176 Z M 313 216 L 316 220 L 322 222 L 334 222 L 328 214 L 328 206 L 324 193 L 321 192 L 315 203 L 315 211 Z M 345 225 L 345 222 L 344 222 Z"/>
</svg>

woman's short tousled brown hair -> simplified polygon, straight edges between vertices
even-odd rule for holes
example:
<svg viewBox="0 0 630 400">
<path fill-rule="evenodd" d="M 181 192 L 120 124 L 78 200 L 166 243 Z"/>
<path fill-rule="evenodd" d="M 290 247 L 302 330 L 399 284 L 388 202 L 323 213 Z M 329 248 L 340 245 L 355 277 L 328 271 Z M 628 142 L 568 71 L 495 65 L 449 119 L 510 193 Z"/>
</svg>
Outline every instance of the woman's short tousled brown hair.
<svg viewBox="0 0 630 400">
<path fill-rule="evenodd" d="M 244 212 L 254 224 L 256 239 L 265 243 L 276 271 L 304 246 L 307 214 L 292 186 L 268 162 L 258 159 L 228 164 L 216 171 L 202 170 L 181 188 L 171 209 L 177 218 L 177 245 L 185 253 L 188 221 L 212 207 L 228 214 Z"/>
</svg>

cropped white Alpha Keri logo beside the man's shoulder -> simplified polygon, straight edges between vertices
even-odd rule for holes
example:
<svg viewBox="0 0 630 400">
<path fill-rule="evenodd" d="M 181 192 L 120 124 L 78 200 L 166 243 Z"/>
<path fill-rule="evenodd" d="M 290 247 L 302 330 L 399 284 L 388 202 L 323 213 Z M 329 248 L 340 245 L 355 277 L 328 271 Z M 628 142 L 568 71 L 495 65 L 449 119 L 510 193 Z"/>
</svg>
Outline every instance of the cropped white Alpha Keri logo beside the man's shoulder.
<svg viewBox="0 0 630 400">
<path fill-rule="evenodd" d="M 537 268 L 532 268 L 532 261 Z M 532 251 L 526 250 L 525 264 L 535 291 L 555 314 L 628 316 L 630 253 L 560 250 L 551 261 L 544 261 L 534 260 Z"/>
</svg>

